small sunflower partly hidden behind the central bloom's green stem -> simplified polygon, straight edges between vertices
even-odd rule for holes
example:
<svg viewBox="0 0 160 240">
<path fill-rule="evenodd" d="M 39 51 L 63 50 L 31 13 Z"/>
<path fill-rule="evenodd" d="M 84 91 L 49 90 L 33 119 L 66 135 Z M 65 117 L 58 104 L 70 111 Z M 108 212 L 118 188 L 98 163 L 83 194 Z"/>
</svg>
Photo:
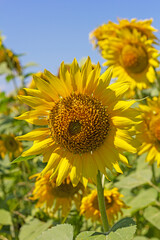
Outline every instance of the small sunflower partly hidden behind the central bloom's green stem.
<svg viewBox="0 0 160 240">
<path fill-rule="evenodd" d="M 106 214 L 109 224 L 118 218 L 118 213 L 122 214 L 122 208 L 128 208 L 128 206 L 120 199 L 121 197 L 123 197 L 123 195 L 118 192 L 117 188 L 104 190 Z M 87 219 L 90 218 L 92 221 L 101 221 L 97 190 L 92 190 L 88 196 L 83 197 L 80 214 L 84 215 Z"/>
</svg>

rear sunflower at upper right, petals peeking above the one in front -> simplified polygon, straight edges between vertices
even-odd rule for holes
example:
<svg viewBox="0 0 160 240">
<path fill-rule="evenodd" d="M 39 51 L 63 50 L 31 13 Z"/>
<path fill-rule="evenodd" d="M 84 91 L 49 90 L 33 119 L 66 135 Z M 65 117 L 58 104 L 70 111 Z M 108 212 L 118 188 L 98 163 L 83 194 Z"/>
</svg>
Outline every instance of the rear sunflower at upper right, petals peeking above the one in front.
<svg viewBox="0 0 160 240">
<path fill-rule="evenodd" d="M 151 26 L 152 21 L 152 19 L 137 21 L 135 18 L 131 19 L 131 21 L 128 19 L 118 19 L 118 23 L 108 21 L 107 24 L 103 24 L 91 32 L 89 38 L 94 47 L 101 48 L 101 44 L 99 44 L 100 42 L 105 42 L 105 40 L 110 37 L 116 37 L 118 30 L 127 28 L 130 32 L 133 32 L 134 29 L 136 29 L 142 35 L 145 35 L 147 39 L 156 40 L 157 37 L 153 32 L 156 32 L 157 29 Z"/>
</svg>

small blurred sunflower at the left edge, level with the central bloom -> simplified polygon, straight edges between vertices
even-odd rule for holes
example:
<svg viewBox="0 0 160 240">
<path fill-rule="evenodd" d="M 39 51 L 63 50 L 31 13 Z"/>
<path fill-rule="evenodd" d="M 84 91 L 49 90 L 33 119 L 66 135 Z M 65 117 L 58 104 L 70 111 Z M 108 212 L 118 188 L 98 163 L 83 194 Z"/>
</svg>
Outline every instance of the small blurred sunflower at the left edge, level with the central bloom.
<svg viewBox="0 0 160 240">
<path fill-rule="evenodd" d="M 2 158 L 8 153 L 9 158 L 12 160 L 13 157 L 18 157 L 23 151 L 22 144 L 15 139 L 13 134 L 0 135 L 0 156 Z"/>
</svg>

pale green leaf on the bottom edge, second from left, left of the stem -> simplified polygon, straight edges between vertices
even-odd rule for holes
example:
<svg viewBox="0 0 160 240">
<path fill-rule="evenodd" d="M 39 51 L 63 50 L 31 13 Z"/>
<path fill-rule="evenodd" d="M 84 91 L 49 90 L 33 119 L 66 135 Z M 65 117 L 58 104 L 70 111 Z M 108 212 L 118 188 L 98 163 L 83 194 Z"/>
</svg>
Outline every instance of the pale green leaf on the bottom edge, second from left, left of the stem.
<svg viewBox="0 0 160 240">
<path fill-rule="evenodd" d="M 70 224 L 61 224 L 43 232 L 35 240 L 72 240 L 73 227 Z"/>
</svg>

